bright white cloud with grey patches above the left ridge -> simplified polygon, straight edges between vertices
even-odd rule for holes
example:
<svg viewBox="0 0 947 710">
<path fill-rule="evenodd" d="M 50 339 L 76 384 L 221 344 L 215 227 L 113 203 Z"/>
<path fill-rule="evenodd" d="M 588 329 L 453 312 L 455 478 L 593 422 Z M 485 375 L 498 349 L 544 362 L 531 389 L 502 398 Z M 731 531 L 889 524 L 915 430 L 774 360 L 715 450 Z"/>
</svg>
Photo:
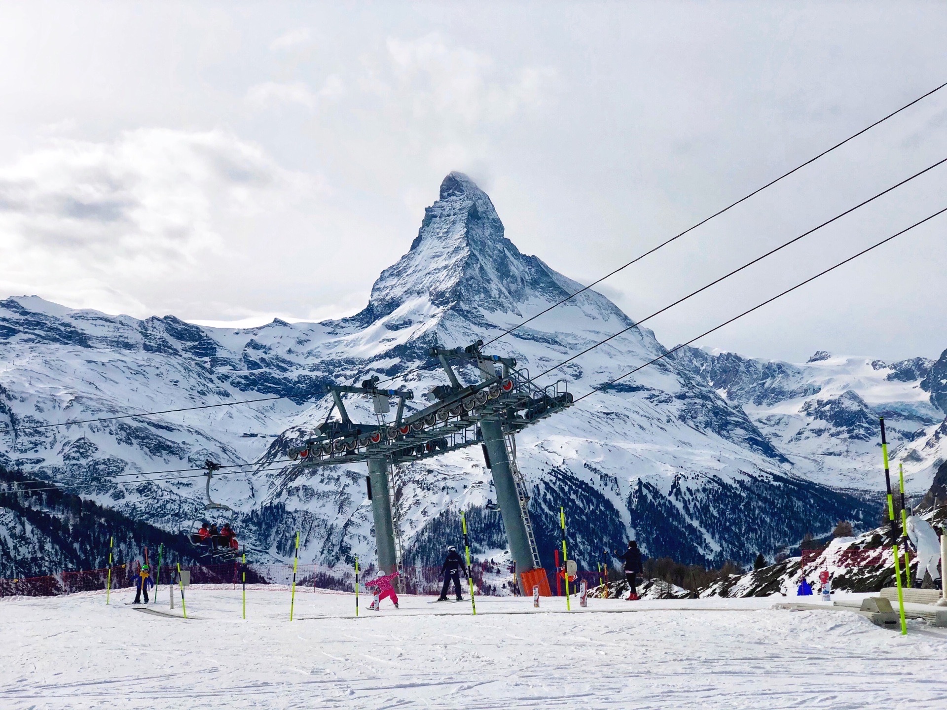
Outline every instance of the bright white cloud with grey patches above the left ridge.
<svg viewBox="0 0 947 710">
<path fill-rule="evenodd" d="M 39 280 L 46 293 L 129 304 L 135 282 L 200 273 L 240 222 L 318 189 L 223 131 L 52 139 L 0 167 L 0 288 L 35 290 Z"/>
</svg>

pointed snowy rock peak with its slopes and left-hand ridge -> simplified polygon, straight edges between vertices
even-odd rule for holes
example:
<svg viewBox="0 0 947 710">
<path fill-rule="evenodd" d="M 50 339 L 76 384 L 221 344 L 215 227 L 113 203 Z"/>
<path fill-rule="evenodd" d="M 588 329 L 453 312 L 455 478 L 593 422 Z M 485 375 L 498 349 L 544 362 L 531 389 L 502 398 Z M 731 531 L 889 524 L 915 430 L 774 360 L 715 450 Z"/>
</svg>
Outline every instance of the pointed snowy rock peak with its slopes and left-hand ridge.
<svg viewBox="0 0 947 710">
<path fill-rule="evenodd" d="M 281 460 L 287 445 L 311 434 L 329 412 L 331 400 L 313 396 L 315 385 L 378 374 L 391 378 L 387 386 L 412 388 L 411 407 L 420 408 L 421 395 L 445 382 L 428 347 L 489 341 L 578 288 L 539 258 L 521 254 L 504 236 L 490 198 L 451 173 L 408 252 L 384 270 L 366 309 L 349 318 L 199 328 L 173 316 L 139 321 L 9 298 L 0 302 L 0 427 L 9 425 L 0 433 L 0 463 L 170 529 L 202 514 L 204 482 L 152 471 L 193 468 L 208 457 L 252 464 L 215 478 L 213 491 L 238 511 L 241 534 L 258 555 L 290 554 L 299 529 L 304 559 L 370 557 L 364 466 L 302 471 Z M 607 298 L 587 291 L 488 349 L 537 373 L 631 322 Z M 651 330 L 635 328 L 543 382 L 561 377 L 581 395 L 664 352 Z M 701 352 L 654 364 L 519 436 L 544 558 L 558 540 L 559 506 L 566 508 L 572 549 L 592 567 L 602 549 L 628 536 L 651 555 L 685 562 L 749 560 L 806 532 L 827 532 L 840 518 L 873 519 L 864 497 L 819 485 L 819 456 L 828 453 L 796 453 L 787 445 L 795 432 L 780 435 L 755 410 L 748 417 L 741 405 L 753 398 L 734 399 L 708 377 Z M 468 382 L 477 377 L 473 370 L 459 374 Z M 806 377 L 787 376 L 798 380 L 793 388 L 808 386 Z M 753 389 L 748 380 L 742 386 Z M 824 389 L 798 397 L 829 392 L 819 386 Z M 286 399 L 27 429 L 267 395 Z M 816 415 L 819 406 L 813 403 Z M 924 406 L 919 399 L 918 417 L 934 411 Z M 374 421 L 362 399 L 349 398 L 347 408 L 355 420 Z M 852 428 L 848 438 L 832 441 L 850 439 L 867 451 L 870 442 L 856 436 L 861 432 Z M 874 468 L 863 458 L 856 469 Z M 397 478 L 409 559 L 436 559 L 464 508 L 477 513 L 478 549 L 496 553 L 503 545 L 498 516 L 484 510 L 492 496 L 479 450 L 428 459 Z"/>
</svg>

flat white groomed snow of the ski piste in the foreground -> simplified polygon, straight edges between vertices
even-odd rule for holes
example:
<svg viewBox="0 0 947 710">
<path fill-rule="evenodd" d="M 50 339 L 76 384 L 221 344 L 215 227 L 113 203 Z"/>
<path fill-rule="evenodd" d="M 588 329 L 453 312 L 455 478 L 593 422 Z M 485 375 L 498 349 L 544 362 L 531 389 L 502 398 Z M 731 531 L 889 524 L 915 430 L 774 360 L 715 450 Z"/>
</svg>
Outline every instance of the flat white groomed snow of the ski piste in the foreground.
<svg viewBox="0 0 947 710">
<path fill-rule="evenodd" d="M 854 595 L 857 596 L 857 595 Z M 784 597 L 625 602 L 188 589 L 0 600 L 2 708 L 947 707 L 947 631 L 906 637 Z M 809 597 L 812 599 L 813 597 Z"/>
</svg>

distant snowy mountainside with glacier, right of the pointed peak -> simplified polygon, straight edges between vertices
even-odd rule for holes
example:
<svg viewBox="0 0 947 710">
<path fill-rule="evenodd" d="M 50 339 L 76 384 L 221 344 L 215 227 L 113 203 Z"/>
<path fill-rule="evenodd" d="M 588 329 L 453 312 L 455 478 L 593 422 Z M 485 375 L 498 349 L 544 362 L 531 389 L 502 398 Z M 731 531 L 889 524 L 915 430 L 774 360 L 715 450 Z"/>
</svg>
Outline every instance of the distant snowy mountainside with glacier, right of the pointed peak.
<svg viewBox="0 0 947 710">
<path fill-rule="evenodd" d="M 926 490 L 947 459 L 947 350 L 938 361 L 892 364 L 825 351 L 805 364 L 693 347 L 674 357 L 730 404 L 741 406 L 795 471 L 814 481 L 884 488 L 879 417 L 895 468 L 903 464 L 912 491 Z"/>
</svg>

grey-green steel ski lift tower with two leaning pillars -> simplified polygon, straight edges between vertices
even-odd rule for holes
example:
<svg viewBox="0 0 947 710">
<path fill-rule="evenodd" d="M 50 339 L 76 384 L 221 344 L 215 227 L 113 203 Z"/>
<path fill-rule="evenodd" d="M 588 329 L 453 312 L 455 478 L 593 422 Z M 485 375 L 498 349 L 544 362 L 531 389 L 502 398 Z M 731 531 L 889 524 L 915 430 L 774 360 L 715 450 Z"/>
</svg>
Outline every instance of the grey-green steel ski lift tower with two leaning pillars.
<svg viewBox="0 0 947 710">
<path fill-rule="evenodd" d="M 516 465 L 516 433 L 569 407 L 572 395 L 564 380 L 540 387 L 529 379 L 526 368 L 516 368 L 515 360 L 485 355 L 481 346 L 483 341 L 453 349 L 432 347 L 429 355 L 438 358 L 449 383 L 435 387 L 431 394 L 436 401 L 410 417 L 403 416 L 404 402 L 413 399 L 414 393 L 378 389 L 377 378 L 362 382 L 361 387 L 326 386 L 323 392 L 331 392 L 341 421 L 327 418 L 318 435 L 288 452 L 305 468 L 366 461 L 378 561 L 386 573 L 399 569 L 402 561 L 388 470 L 477 444 L 482 445 L 491 470 L 521 587 L 520 573 L 541 567 L 529 522 L 526 482 Z M 451 365 L 457 360 L 475 364 L 480 382 L 461 383 Z M 378 422 L 352 423 L 342 402 L 344 393 L 373 399 Z M 390 411 L 388 401 L 394 398 L 399 399 L 397 414 L 394 421 L 385 423 L 382 415 Z"/>
</svg>

